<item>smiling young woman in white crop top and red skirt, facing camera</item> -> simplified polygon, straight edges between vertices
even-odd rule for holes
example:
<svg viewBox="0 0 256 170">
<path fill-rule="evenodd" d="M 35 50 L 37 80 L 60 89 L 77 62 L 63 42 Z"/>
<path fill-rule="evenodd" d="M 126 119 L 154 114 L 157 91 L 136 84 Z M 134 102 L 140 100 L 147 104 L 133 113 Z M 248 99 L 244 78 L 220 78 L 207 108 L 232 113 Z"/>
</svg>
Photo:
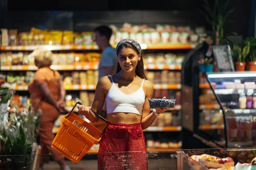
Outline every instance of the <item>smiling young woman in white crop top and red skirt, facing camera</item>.
<svg viewBox="0 0 256 170">
<path fill-rule="evenodd" d="M 106 101 L 108 126 L 100 141 L 98 170 L 147 170 L 143 129 L 166 109 L 150 113 L 148 99 L 153 98 L 154 88 L 146 80 L 140 44 L 131 39 L 121 40 L 116 46 L 116 55 L 117 73 L 99 79 L 91 108 L 101 113 Z M 88 107 L 78 108 L 78 113 L 91 122 L 96 121 Z"/>
</svg>

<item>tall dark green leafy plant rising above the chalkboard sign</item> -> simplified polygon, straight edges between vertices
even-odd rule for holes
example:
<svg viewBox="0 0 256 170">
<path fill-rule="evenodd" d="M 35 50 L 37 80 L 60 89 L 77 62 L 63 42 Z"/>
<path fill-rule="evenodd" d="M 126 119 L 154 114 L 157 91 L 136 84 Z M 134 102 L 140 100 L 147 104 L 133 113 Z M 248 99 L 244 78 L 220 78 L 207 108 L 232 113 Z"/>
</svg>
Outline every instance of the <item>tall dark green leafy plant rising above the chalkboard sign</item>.
<svg viewBox="0 0 256 170">
<path fill-rule="evenodd" d="M 223 3 L 222 0 L 215 0 L 214 8 L 212 9 L 209 5 L 208 0 L 204 0 L 204 10 L 201 11 L 202 14 L 205 14 L 207 22 L 212 27 L 212 37 L 215 37 L 215 44 L 222 45 L 225 42 L 224 38 L 224 25 L 227 21 L 227 17 L 235 11 L 236 8 L 230 10 L 227 9 L 230 0 L 226 0 Z"/>
</svg>

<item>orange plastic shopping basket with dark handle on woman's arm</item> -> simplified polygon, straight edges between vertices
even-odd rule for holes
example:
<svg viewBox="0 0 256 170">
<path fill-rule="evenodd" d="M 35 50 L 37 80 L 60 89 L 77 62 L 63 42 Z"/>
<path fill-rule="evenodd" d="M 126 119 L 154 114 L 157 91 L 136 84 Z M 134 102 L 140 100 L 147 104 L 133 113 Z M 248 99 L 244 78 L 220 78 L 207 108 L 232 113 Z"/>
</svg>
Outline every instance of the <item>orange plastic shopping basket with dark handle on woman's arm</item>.
<svg viewBox="0 0 256 170">
<path fill-rule="evenodd" d="M 77 102 L 76 105 L 77 104 L 82 105 L 81 102 Z M 76 105 L 72 108 L 70 113 L 61 118 L 61 127 L 52 142 L 52 148 L 62 153 L 67 159 L 74 163 L 80 161 L 93 144 L 99 143 L 102 132 L 105 130 L 100 131 L 73 113 Z M 102 116 L 94 111 L 92 112 L 108 123 Z"/>
</svg>

